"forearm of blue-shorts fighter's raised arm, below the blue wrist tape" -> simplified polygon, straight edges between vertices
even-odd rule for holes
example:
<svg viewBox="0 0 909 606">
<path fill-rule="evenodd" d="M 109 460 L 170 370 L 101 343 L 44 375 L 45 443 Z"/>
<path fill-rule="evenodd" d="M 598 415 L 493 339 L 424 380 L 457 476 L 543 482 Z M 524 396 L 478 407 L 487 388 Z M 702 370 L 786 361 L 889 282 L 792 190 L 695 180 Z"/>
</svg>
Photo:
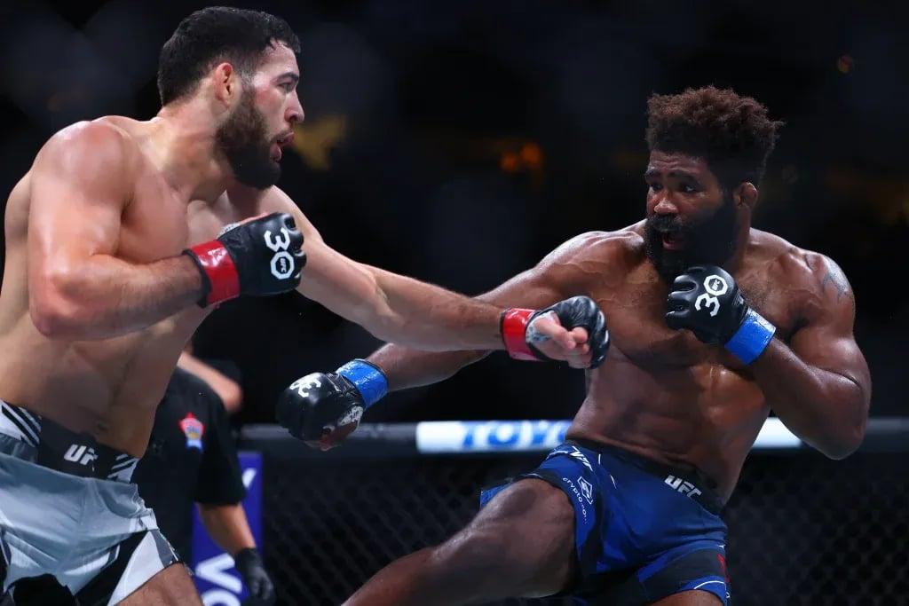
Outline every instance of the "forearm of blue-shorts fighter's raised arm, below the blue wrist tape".
<svg viewBox="0 0 909 606">
<path fill-rule="evenodd" d="M 776 415 L 804 442 L 834 459 L 861 444 L 870 398 L 859 382 L 804 363 L 778 339 L 750 369 Z"/>
</svg>

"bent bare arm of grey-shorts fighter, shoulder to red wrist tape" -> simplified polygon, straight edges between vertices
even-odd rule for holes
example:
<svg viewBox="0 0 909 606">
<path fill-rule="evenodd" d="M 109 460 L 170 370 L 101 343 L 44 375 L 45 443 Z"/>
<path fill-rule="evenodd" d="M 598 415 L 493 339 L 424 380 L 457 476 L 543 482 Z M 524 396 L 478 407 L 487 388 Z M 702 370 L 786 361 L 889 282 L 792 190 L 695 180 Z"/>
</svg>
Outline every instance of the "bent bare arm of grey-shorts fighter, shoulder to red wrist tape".
<svg viewBox="0 0 909 606">
<path fill-rule="evenodd" d="M 29 312 L 46 336 L 107 339 L 195 303 L 202 281 L 185 256 L 148 264 L 115 257 L 133 192 L 132 152 L 109 125 L 56 134 L 35 159 L 28 223 Z"/>
</svg>

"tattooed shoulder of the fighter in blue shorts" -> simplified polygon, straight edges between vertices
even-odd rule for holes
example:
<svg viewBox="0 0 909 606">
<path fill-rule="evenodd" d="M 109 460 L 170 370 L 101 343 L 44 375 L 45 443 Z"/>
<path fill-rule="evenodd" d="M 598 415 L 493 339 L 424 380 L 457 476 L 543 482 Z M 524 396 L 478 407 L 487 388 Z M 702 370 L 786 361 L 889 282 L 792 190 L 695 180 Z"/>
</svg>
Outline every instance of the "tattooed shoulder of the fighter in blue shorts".
<svg viewBox="0 0 909 606">
<path fill-rule="evenodd" d="M 838 309 L 854 313 L 854 294 L 842 268 L 823 253 L 800 248 L 771 233 L 753 239 L 769 263 L 769 277 L 792 293 L 805 319 Z"/>
</svg>

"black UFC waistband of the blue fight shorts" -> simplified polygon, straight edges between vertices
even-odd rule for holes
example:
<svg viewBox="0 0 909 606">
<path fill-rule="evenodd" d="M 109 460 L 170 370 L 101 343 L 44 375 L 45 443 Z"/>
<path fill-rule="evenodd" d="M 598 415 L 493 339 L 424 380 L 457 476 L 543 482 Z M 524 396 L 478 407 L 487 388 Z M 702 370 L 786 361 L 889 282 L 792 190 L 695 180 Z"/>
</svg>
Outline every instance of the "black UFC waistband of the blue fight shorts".
<svg viewBox="0 0 909 606">
<path fill-rule="evenodd" d="M 565 440 L 565 443 L 580 446 L 594 452 L 602 452 L 622 462 L 634 465 L 634 467 L 663 480 L 675 492 L 681 492 L 685 496 L 694 499 L 705 510 L 714 513 L 714 515 L 719 515 L 723 511 L 725 503 L 716 492 L 716 482 L 694 466 L 690 468 L 678 467 L 648 459 L 636 452 L 626 451 L 611 444 L 601 444 L 590 440 L 572 439 Z"/>
</svg>

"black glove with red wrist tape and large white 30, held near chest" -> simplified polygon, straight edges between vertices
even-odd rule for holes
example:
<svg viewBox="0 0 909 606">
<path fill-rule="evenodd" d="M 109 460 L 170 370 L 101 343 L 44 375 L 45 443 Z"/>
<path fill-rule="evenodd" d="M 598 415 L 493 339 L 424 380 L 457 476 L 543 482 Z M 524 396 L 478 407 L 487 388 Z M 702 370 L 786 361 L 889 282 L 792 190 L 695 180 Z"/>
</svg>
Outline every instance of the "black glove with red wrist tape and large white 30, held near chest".
<svg viewBox="0 0 909 606">
<path fill-rule="evenodd" d="M 200 307 L 234 299 L 241 294 L 267 296 L 294 290 L 306 264 L 303 234 L 294 217 L 273 213 L 229 224 L 215 240 L 196 244 L 183 253 L 202 274 Z"/>
</svg>

